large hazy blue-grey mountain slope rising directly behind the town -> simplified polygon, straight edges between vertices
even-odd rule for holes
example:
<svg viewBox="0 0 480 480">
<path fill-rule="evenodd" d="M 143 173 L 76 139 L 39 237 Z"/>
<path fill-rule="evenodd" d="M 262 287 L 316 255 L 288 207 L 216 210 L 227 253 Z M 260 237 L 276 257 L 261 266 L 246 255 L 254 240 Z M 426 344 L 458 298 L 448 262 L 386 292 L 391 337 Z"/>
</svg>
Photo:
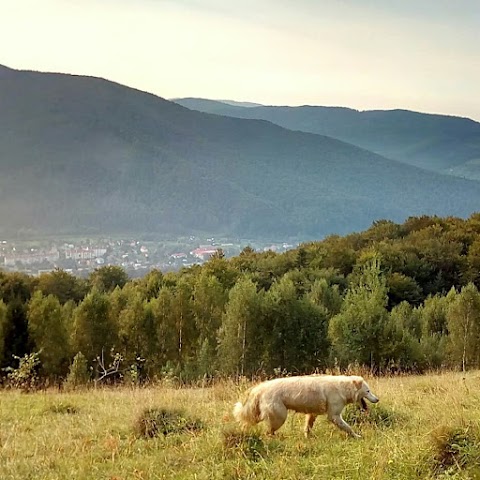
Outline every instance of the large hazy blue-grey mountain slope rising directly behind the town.
<svg viewBox="0 0 480 480">
<path fill-rule="evenodd" d="M 318 239 L 382 218 L 465 217 L 479 186 L 100 78 L 0 69 L 0 235 Z"/>
</svg>

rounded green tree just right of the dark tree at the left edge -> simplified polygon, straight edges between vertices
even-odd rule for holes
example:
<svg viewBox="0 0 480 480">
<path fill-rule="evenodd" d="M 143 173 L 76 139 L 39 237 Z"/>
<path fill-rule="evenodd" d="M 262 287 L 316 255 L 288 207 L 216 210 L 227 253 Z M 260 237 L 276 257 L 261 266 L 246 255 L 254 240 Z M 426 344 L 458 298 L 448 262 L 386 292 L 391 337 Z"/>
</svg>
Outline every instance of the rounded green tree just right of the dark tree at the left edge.
<svg viewBox="0 0 480 480">
<path fill-rule="evenodd" d="M 58 376 L 66 373 L 70 344 L 57 297 L 34 293 L 27 311 L 28 331 L 39 352 L 43 373 Z"/>
</svg>

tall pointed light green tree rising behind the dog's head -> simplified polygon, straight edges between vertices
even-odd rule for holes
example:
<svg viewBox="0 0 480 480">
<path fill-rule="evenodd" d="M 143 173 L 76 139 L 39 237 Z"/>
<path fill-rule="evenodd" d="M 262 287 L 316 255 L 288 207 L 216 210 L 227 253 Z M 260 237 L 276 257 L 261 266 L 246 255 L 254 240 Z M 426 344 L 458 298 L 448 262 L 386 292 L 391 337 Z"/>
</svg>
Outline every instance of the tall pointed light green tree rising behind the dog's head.
<svg viewBox="0 0 480 480">
<path fill-rule="evenodd" d="M 381 367 L 388 321 L 387 293 L 380 262 L 373 259 L 357 272 L 340 313 L 330 321 L 333 354 L 341 364 L 357 361 L 374 369 Z"/>
</svg>

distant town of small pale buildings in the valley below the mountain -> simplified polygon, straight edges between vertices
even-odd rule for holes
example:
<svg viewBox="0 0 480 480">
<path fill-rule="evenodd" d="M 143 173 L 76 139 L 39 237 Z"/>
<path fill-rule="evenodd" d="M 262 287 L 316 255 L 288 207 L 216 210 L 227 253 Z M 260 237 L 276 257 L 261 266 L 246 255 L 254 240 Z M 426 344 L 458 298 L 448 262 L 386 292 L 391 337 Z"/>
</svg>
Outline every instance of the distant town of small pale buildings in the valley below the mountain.
<svg viewBox="0 0 480 480">
<path fill-rule="evenodd" d="M 117 238 L 75 241 L 0 240 L 0 270 L 40 275 L 62 269 L 86 277 L 103 265 L 118 265 L 130 277 L 135 278 L 153 269 L 166 272 L 202 264 L 219 250 L 226 257 L 232 257 L 247 246 L 256 251 L 284 252 L 296 245 L 288 242 L 261 243 L 196 236 L 148 241 Z"/>
</svg>

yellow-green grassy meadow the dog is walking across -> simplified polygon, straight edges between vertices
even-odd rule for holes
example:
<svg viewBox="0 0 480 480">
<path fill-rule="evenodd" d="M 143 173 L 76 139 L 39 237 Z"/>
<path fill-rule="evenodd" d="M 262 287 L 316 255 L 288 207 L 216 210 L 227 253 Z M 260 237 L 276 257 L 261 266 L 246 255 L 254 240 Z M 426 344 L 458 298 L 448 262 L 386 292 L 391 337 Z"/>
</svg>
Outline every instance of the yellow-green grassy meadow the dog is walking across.
<svg viewBox="0 0 480 480">
<path fill-rule="evenodd" d="M 274 438 L 242 436 L 233 403 L 248 384 L 208 388 L 0 392 L 0 478 L 480 478 L 480 372 L 368 378 L 380 403 L 344 417 L 359 440 L 320 417 L 309 439 L 290 414 Z M 183 410 L 195 429 L 145 438 L 148 408 Z"/>
</svg>

